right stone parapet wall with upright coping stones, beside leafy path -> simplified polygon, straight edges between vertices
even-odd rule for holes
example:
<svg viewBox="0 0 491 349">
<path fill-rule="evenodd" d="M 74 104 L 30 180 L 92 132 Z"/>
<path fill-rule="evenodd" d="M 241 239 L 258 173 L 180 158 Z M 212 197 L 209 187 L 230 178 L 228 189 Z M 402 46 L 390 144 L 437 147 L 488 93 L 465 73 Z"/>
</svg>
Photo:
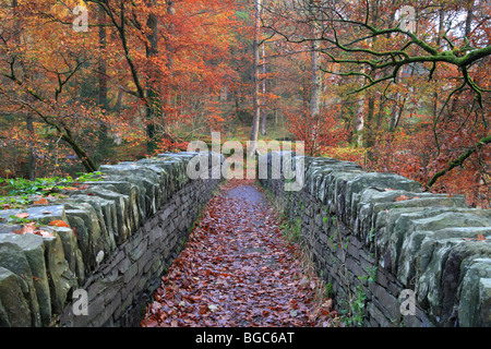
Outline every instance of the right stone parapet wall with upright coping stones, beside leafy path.
<svg viewBox="0 0 491 349">
<path fill-rule="evenodd" d="M 491 325 L 491 210 L 331 158 L 303 157 L 303 189 L 285 191 L 272 156 L 260 182 L 354 325 Z"/>
</svg>

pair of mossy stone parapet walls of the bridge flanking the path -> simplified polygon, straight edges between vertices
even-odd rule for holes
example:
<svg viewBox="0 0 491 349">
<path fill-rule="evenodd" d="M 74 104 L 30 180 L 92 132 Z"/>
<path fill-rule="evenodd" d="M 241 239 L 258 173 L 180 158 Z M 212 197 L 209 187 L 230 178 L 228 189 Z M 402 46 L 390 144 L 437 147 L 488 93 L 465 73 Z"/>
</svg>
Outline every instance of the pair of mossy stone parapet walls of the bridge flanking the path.
<svg viewBox="0 0 491 349">
<path fill-rule="evenodd" d="M 100 181 L 73 183 L 48 205 L 0 210 L 28 213 L 51 234 L 0 222 L 0 326 L 137 325 L 220 182 L 190 179 L 194 156 L 101 166 Z M 274 156 L 284 154 L 261 159 L 271 167 Z M 209 173 L 225 160 L 206 157 Z M 302 158 L 300 191 L 286 191 L 283 173 L 260 183 L 336 302 L 361 301 L 367 326 L 491 325 L 491 210 L 354 163 Z"/>
</svg>

